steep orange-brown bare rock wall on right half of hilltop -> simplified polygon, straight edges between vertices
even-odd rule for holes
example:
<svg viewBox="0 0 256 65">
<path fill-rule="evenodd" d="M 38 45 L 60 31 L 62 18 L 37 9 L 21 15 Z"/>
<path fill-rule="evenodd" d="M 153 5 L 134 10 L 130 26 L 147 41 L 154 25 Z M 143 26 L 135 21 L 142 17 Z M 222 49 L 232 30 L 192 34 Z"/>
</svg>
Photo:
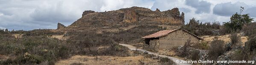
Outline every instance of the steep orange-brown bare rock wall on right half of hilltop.
<svg viewBox="0 0 256 65">
<path fill-rule="evenodd" d="M 141 15 L 138 13 L 138 11 L 134 11 L 132 9 L 127 9 L 124 11 L 124 18 L 123 22 L 126 23 L 134 23 L 134 22 L 157 22 L 157 23 L 167 23 L 167 24 L 183 24 L 185 23 L 184 21 L 184 13 L 179 14 L 179 9 L 178 8 L 173 8 L 168 11 L 159 11 L 159 9 L 156 9 L 156 11 L 150 11 L 153 12 L 153 16 L 150 15 Z M 158 14 L 158 13 L 162 14 Z M 140 15 L 140 16 L 138 16 Z M 140 18 L 141 17 L 141 18 Z M 147 19 L 145 19 L 147 18 Z"/>
</svg>

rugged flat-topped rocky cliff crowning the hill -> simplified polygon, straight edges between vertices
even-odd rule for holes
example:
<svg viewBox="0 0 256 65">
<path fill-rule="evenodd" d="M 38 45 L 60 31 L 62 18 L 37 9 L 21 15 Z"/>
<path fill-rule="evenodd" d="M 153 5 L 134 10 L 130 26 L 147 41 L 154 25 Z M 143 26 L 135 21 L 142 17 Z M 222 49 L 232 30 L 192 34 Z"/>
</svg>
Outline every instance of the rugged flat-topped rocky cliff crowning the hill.
<svg viewBox="0 0 256 65">
<path fill-rule="evenodd" d="M 123 24 L 184 25 L 184 13 L 178 8 L 168 11 L 151 11 L 148 8 L 131 7 L 116 11 L 84 11 L 82 17 L 68 27 L 109 27 L 117 28 Z"/>
</svg>

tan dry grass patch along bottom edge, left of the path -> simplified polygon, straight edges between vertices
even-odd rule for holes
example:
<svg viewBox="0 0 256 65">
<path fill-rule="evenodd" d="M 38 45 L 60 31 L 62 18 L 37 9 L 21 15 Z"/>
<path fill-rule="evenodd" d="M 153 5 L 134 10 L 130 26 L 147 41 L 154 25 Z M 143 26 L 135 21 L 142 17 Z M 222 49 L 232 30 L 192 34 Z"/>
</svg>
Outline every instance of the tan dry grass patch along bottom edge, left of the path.
<svg viewBox="0 0 256 65">
<path fill-rule="evenodd" d="M 112 57 L 112 56 L 73 56 L 69 59 L 61 60 L 56 65 L 71 65 L 72 63 L 82 63 L 84 65 L 140 65 L 139 60 L 143 61 L 147 65 L 156 65 L 158 60 L 144 58 L 143 56 L 135 57 Z"/>
</svg>

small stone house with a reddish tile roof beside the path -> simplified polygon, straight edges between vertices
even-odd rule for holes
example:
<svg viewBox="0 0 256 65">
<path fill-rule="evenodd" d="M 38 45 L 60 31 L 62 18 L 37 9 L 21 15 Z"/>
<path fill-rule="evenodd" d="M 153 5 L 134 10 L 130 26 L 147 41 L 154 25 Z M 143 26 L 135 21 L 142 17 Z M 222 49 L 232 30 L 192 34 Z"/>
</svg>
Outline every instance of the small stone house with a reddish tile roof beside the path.
<svg viewBox="0 0 256 65">
<path fill-rule="evenodd" d="M 179 45 L 184 45 L 188 39 L 193 43 L 203 40 L 181 28 L 158 31 L 142 38 L 145 39 L 143 48 L 151 49 L 153 51 L 158 51 L 159 49 L 171 49 Z"/>
</svg>

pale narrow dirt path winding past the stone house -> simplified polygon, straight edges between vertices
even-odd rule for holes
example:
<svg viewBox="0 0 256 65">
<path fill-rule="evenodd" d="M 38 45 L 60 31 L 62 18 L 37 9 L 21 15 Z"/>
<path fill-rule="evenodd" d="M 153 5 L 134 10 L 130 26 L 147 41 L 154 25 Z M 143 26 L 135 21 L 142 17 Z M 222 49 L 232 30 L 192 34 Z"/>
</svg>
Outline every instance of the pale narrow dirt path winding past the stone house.
<svg viewBox="0 0 256 65">
<path fill-rule="evenodd" d="M 136 50 L 136 47 L 132 46 L 132 45 L 127 45 L 127 44 L 119 44 L 119 45 L 123 45 L 131 50 Z M 143 49 L 137 49 L 139 51 L 146 51 L 146 50 L 143 50 Z M 178 59 L 176 57 L 169 57 L 169 56 L 165 56 L 165 55 L 160 55 L 160 54 L 157 54 L 157 53 L 153 53 L 153 52 L 150 52 L 150 51 L 147 51 L 148 54 L 154 54 L 156 56 L 159 56 L 159 57 L 168 57 L 169 59 L 173 60 L 177 65 L 191 65 L 191 64 L 188 64 L 188 63 L 180 63 L 182 61 L 182 59 Z M 176 61 L 179 61 L 179 62 L 176 62 Z"/>
</svg>

